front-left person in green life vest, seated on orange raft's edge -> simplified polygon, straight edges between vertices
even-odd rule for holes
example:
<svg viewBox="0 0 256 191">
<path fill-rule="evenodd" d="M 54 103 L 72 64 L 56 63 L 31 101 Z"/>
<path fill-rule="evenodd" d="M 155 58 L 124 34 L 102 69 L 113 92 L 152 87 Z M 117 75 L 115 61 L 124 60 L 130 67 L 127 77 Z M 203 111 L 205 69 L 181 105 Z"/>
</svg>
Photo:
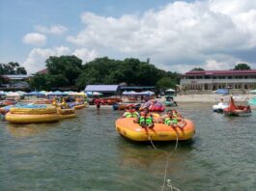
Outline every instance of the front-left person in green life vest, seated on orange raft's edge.
<svg viewBox="0 0 256 191">
<path fill-rule="evenodd" d="M 153 128 L 154 127 L 154 119 L 151 114 L 149 114 L 149 109 L 145 107 L 138 118 L 133 121 L 134 123 L 139 123 L 142 128 Z"/>
</svg>

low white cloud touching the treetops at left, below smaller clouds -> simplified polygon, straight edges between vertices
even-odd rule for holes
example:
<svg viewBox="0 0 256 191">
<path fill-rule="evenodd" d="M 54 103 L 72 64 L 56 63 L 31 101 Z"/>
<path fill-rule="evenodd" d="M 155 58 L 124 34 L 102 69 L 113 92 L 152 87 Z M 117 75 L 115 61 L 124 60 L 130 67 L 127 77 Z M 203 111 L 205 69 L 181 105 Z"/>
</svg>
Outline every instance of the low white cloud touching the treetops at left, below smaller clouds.
<svg viewBox="0 0 256 191">
<path fill-rule="evenodd" d="M 34 48 L 28 55 L 26 61 L 22 64 L 28 72 L 33 73 L 45 68 L 45 60 L 49 56 L 61 56 L 71 53 L 71 49 L 66 46 L 54 48 Z"/>
</svg>

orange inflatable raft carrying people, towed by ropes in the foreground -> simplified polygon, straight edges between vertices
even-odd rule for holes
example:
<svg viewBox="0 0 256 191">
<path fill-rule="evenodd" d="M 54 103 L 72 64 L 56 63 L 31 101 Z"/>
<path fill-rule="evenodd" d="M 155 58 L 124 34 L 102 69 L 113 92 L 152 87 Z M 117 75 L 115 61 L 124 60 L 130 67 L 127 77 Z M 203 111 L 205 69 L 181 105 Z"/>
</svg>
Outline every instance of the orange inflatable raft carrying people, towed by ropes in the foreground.
<svg viewBox="0 0 256 191">
<path fill-rule="evenodd" d="M 132 118 L 123 118 L 116 121 L 117 132 L 133 141 L 175 141 L 189 140 L 195 133 L 194 124 L 190 120 L 185 120 L 183 128 L 171 127 L 163 123 L 155 123 L 153 128 L 142 128 L 138 123 L 133 123 Z"/>
</svg>

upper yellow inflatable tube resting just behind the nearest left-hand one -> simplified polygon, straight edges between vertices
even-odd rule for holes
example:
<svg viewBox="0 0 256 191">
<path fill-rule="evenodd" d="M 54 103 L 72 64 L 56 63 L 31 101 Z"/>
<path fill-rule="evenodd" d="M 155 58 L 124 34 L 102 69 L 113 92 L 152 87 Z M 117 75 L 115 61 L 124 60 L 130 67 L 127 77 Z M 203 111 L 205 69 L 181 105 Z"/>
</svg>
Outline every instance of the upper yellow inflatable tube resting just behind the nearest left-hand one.
<svg viewBox="0 0 256 191">
<path fill-rule="evenodd" d="M 27 114 L 27 115 L 41 115 L 54 114 L 57 112 L 56 107 L 13 107 L 10 109 L 11 114 Z"/>
</svg>

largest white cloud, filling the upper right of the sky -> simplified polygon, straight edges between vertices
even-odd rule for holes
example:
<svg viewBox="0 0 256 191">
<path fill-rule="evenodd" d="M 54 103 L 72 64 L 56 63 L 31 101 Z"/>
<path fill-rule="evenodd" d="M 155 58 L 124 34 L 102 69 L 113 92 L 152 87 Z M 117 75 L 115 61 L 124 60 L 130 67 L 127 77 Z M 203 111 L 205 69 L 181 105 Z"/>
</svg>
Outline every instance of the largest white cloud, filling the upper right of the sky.
<svg viewBox="0 0 256 191">
<path fill-rule="evenodd" d="M 236 61 L 256 59 L 256 1 L 177 1 L 116 18 L 83 13 L 81 20 L 84 29 L 67 41 L 126 57 L 151 58 L 162 68 L 173 70 L 181 63 L 187 68 L 228 69 Z M 251 53 L 244 59 L 244 52 Z"/>
</svg>

